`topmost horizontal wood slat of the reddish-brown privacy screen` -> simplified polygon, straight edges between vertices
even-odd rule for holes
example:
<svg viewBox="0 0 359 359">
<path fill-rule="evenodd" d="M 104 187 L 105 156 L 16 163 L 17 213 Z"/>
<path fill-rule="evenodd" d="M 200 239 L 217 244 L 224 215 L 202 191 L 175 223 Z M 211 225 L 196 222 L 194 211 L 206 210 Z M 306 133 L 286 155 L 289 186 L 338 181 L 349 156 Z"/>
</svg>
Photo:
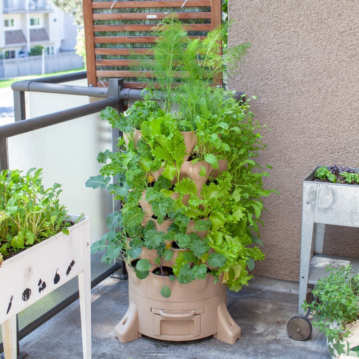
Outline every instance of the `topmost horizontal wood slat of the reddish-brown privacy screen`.
<svg viewBox="0 0 359 359">
<path fill-rule="evenodd" d="M 184 0 L 167 0 L 167 1 L 93 1 L 93 9 L 130 9 L 130 8 L 180 8 Z M 187 0 L 184 7 L 211 6 L 211 0 Z"/>
</svg>

